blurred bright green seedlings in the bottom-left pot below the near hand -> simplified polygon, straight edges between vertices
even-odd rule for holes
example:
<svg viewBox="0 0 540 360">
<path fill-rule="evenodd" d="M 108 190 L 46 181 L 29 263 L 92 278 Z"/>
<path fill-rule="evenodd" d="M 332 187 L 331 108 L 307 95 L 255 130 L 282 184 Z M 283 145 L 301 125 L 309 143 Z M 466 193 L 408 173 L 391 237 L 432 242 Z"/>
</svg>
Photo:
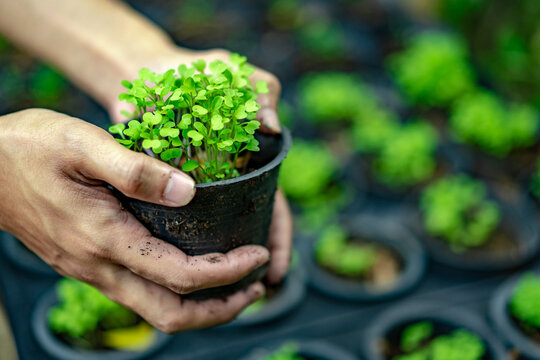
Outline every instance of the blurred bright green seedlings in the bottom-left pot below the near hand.
<svg viewBox="0 0 540 360">
<path fill-rule="evenodd" d="M 57 293 L 60 302 L 48 314 L 49 326 L 57 334 L 88 338 L 98 328 L 127 327 L 137 320 L 135 313 L 83 282 L 62 279 Z"/>
</svg>

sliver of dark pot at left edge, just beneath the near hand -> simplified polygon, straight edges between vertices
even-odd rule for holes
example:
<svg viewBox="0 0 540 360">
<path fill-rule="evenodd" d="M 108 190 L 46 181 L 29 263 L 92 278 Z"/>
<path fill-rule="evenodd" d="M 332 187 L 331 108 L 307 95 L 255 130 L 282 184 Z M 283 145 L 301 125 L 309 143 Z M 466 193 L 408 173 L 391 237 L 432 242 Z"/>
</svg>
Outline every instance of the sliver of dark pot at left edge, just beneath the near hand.
<svg viewBox="0 0 540 360">
<path fill-rule="evenodd" d="M 11 263 L 23 270 L 38 275 L 59 276 L 52 267 L 26 248 L 19 239 L 10 233 L 0 233 L 0 251 L 7 256 Z"/>
</svg>

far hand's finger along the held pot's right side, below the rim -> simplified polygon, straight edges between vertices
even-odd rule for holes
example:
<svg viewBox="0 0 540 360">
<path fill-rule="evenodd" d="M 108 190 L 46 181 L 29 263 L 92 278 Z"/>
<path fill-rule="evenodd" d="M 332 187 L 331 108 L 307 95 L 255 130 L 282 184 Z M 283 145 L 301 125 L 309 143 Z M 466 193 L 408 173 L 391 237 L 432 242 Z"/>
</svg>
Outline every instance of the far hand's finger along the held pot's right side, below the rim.
<svg viewBox="0 0 540 360">
<path fill-rule="evenodd" d="M 268 267 L 267 278 L 271 284 L 280 282 L 289 269 L 292 232 L 293 224 L 291 211 L 285 196 L 278 190 L 276 192 L 269 238 L 271 260 Z"/>
</svg>

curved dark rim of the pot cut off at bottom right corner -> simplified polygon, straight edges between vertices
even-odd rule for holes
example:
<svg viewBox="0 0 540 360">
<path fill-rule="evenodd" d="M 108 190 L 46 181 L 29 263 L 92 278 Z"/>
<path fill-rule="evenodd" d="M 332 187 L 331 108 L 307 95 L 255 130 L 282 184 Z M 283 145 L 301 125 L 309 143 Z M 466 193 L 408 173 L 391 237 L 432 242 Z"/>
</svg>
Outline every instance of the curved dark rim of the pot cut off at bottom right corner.
<svg viewBox="0 0 540 360">
<path fill-rule="evenodd" d="M 511 278 L 495 291 L 489 304 L 489 314 L 501 337 L 527 359 L 540 360 L 540 344 L 523 333 L 508 313 L 508 304 L 522 276 L 518 275 Z"/>
</svg>

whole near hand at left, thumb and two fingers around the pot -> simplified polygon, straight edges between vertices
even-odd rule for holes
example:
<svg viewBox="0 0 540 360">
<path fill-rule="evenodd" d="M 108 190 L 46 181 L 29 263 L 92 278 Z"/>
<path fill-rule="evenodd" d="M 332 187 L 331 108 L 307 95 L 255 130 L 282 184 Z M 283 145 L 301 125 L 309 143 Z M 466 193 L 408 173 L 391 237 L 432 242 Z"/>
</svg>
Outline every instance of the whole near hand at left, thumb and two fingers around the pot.
<svg viewBox="0 0 540 360">
<path fill-rule="evenodd" d="M 187 256 L 150 235 L 107 188 L 167 206 L 194 196 L 193 180 L 125 149 L 106 131 L 53 111 L 0 117 L 0 228 L 60 274 L 98 288 L 172 333 L 223 323 L 264 293 L 261 283 L 227 299 L 181 294 L 234 283 L 269 260 L 255 245 Z M 140 255 L 148 249 L 149 255 Z M 210 257 L 222 261 L 207 261 Z"/>
</svg>

